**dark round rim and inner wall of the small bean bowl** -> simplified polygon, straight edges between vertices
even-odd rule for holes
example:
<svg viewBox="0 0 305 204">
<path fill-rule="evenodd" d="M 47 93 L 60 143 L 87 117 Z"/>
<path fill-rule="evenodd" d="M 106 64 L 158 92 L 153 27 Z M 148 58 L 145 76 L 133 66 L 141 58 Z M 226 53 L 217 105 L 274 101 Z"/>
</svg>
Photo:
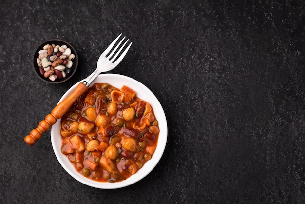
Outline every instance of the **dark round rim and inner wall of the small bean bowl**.
<svg viewBox="0 0 305 204">
<path fill-rule="evenodd" d="M 66 44 L 70 49 L 72 49 L 72 53 L 75 55 L 75 58 L 74 58 L 74 60 L 73 60 L 73 63 L 76 63 L 76 64 L 73 64 L 73 67 L 75 66 L 75 68 L 72 70 L 72 73 L 70 73 L 69 76 L 67 76 L 67 77 L 65 77 L 65 78 L 63 78 L 63 79 L 61 79 L 60 81 L 51 81 L 51 80 L 49 80 L 48 78 L 44 78 L 43 76 L 40 75 L 40 73 L 38 73 L 39 70 L 37 70 L 38 65 L 37 65 L 36 60 L 37 60 L 38 55 L 39 55 L 38 52 L 39 52 L 39 50 L 41 50 L 41 49 L 43 48 L 44 45 L 50 44 L 50 43 L 48 43 L 48 42 L 50 42 L 50 41 L 57 41 L 57 42 L 60 42 L 60 44 L 62 44 L 62 45 L 63 45 L 63 44 Z M 51 44 L 55 44 L 55 43 L 51 43 Z M 76 61 L 76 62 L 74 62 L 74 61 Z M 41 79 L 42 81 L 48 82 L 48 83 L 53 83 L 53 84 L 63 83 L 63 82 L 68 81 L 68 80 L 75 74 L 76 69 L 77 69 L 77 67 L 78 67 L 78 55 L 77 55 L 76 49 L 75 49 L 69 42 L 67 42 L 67 41 L 65 41 L 65 40 L 62 40 L 62 39 L 57 39 L 57 38 L 49 39 L 49 40 L 45 40 L 45 41 L 43 41 L 42 43 L 40 43 L 39 46 L 36 48 L 36 50 L 35 50 L 35 52 L 34 52 L 34 56 L 33 56 L 33 64 L 32 64 L 32 66 L 33 66 L 33 68 L 34 68 L 35 74 L 36 74 L 36 75 L 38 76 L 38 78 Z M 38 67 L 38 69 L 39 69 L 39 67 Z"/>
</svg>

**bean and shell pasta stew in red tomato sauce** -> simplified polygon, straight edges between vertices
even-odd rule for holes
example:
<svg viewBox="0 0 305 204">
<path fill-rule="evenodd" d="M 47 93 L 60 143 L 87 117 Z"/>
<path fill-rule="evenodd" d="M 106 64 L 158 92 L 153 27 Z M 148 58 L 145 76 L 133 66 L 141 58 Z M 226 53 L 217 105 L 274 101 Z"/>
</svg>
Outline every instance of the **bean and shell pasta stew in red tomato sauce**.
<svg viewBox="0 0 305 204">
<path fill-rule="evenodd" d="M 61 119 L 61 152 L 83 176 L 119 182 L 152 158 L 159 127 L 151 105 L 123 86 L 95 83 Z"/>
</svg>

